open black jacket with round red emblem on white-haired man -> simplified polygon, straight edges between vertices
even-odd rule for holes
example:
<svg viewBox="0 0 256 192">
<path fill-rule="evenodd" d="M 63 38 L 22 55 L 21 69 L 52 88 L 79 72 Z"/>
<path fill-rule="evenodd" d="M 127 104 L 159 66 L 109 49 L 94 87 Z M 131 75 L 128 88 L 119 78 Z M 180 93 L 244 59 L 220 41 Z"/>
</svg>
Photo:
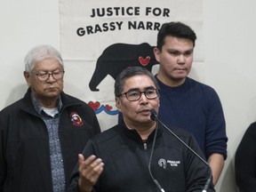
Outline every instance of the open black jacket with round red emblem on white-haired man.
<svg viewBox="0 0 256 192">
<path fill-rule="evenodd" d="M 30 92 L 28 88 L 23 99 L 0 112 L 0 192 L 52 191 L 48 132 Z M 82 100 L 63 92 L 60 96 L 59 138 L 68 183 L 78 153 L 100 132 L 100 125 L 92 108 Z M 74 121 L 74 114 L 81 117 L 81 124 Z"/>
</svg>

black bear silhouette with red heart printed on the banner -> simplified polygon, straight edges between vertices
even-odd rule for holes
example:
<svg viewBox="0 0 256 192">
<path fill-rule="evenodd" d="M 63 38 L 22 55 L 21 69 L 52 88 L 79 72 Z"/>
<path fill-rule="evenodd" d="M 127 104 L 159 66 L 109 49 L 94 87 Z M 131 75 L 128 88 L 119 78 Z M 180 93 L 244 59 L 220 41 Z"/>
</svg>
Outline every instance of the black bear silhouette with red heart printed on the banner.
<svg viewBox="0 0 256 192">
<path fill-rule="evenodd" d="M 91 91 L 98 92 L 97 86 L 106 76 L 112 76 L 116 80 L 116 76 L 130 66 L 140 66 L 152 71 L 152 67 L 158 64 L 154 48 L 148 43 L 109 45 L 97 60 L 89 83 Z"/>
</svg>

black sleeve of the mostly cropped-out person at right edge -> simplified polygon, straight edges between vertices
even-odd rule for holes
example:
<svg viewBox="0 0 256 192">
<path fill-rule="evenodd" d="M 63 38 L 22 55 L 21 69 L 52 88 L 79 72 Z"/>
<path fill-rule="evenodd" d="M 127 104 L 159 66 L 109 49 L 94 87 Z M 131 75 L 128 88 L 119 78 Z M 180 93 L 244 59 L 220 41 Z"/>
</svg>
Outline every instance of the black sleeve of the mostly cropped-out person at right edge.
<svg viewBox="0 0 256 192">
<path fill-rule="evenodd" d="M 256 123 L 251 124 L 236 149 L 236 185 L 243 192 L 256 190 Z"/>
</svg>

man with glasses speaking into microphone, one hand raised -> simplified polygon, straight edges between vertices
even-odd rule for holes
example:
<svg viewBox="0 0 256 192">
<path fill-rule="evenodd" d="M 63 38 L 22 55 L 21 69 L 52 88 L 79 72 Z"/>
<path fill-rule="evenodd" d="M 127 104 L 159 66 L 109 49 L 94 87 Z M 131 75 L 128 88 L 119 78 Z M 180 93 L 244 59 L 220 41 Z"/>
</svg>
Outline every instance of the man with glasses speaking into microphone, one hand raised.
<svg viewBox="0 0 256 192">
<path fill-rule="evenodd" d="M 154 118 L 158 89 L 144 68 L 126 68 L 116 78 L 116 108 L 124 120 L 88 141 L 78 155 L 69 191 L 215 191 L 194 137 Z"/>
</svg>

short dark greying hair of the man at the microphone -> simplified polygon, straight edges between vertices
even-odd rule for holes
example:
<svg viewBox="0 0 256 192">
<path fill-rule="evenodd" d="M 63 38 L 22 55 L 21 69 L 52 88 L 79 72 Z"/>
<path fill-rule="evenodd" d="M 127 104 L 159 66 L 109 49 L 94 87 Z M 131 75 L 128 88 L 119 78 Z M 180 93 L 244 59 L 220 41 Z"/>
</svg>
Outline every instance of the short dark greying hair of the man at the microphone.
<svg viewBox="0 0 256 192">
<path fill-rule="evenodd" d="M 141 67 L 128 67 L 125 68 L 117 77 L 116 77 L 116 82 L 115 82 L 115 95 L 116 97 L 118 95 L 121 95 L 124 89 L 124 83 L 127 78 L 132 77 L 132 76 L 140 76 L 140 75 L 146 75 L 149 76 L 150 79 L 153 81 L 153 83 L 156 86 L 156 89 L 159 90 L 159 85 L 156 81 L 155 76 L 148 71 L 146 68 L 141 68 Z"/>
</svg>

